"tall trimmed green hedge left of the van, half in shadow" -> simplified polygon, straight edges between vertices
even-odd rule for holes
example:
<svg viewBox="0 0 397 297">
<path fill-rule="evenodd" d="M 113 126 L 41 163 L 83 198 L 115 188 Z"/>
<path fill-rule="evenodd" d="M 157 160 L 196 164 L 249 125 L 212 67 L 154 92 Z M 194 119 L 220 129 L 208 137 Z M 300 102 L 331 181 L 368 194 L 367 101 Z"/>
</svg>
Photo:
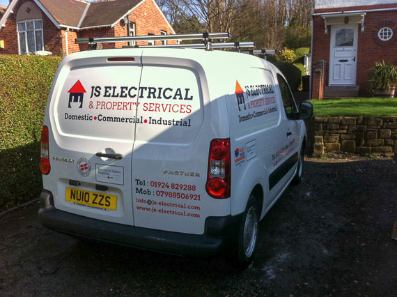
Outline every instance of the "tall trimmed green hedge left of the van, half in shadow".
<svg viewBox="0 0 397 297">
<path fill-rule="evenodd" d="M 0 212 L 38 197 L 42 121 L 60 57 L 0 55 Z"/>
</svg>

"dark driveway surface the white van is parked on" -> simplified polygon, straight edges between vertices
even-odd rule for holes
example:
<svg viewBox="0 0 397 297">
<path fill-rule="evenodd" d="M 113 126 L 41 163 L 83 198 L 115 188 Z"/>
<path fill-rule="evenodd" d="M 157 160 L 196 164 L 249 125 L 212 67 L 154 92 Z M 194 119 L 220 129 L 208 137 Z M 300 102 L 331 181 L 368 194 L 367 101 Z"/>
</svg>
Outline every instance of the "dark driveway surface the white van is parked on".
<svg viewBox="0 0 397 297">
<path fill-rule="evenodd" d="M 397 162 L 306 159 L 260 222 L 247 271 L 86 243 L 50 231 L 33 203 L 0 217 L 0 296 L 397 296 Z"/>
</svg>

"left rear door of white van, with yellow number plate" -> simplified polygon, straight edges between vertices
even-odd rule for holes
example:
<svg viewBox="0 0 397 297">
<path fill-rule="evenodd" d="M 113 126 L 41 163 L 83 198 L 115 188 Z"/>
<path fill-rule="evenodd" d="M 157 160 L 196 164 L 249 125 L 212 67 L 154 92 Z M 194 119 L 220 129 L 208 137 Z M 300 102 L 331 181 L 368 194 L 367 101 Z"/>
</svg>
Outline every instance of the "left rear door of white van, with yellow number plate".
<svg viewBox="0 0 397 297">
<path fill-rule="evenodd" d="M 133 225 L 131 162 L 141 121 L 141 50 L 134 56 L 115 50 L 72 58 L 63 61 L 52 91 L 49 178 L 54 178 L 45 178 L 45 188 L 63 211 Z"/>
</svg>

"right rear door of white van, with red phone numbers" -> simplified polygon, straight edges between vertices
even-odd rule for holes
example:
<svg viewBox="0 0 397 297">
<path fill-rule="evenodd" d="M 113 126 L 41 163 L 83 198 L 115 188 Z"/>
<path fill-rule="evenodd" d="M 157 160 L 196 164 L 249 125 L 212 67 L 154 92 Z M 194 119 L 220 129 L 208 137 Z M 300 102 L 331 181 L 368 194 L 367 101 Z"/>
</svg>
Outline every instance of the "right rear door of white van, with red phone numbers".
<svg viewBox="0 0 397 297">
<path fill-rule="evenodd" d="M 137 227 L 203 234 L 208 216 L 230 214 L 229 199 L 205 190 L 216 128 L 195 50 L 144 50 L 132 156 Z M 169 56 L 166 56 L 166 55 Z M 183 58 L 185 56 L 185 58 Z M 176 58 L 178 57 L 178 58 Z"/>
</svg>

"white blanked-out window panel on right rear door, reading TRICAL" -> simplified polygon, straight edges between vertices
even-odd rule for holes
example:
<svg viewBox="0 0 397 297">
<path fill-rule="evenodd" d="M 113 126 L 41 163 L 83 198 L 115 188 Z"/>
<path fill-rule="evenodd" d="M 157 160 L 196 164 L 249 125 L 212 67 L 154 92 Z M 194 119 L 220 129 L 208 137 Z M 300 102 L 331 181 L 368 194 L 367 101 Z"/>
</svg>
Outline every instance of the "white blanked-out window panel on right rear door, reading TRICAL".
<svg viewBox="0 0 397 297">
<path fill-rule="evenodd" d="M 203 120 L 198 77 L 186 68 L 143 66 L 136 140 L 189 144 Z"/>
</svg>

